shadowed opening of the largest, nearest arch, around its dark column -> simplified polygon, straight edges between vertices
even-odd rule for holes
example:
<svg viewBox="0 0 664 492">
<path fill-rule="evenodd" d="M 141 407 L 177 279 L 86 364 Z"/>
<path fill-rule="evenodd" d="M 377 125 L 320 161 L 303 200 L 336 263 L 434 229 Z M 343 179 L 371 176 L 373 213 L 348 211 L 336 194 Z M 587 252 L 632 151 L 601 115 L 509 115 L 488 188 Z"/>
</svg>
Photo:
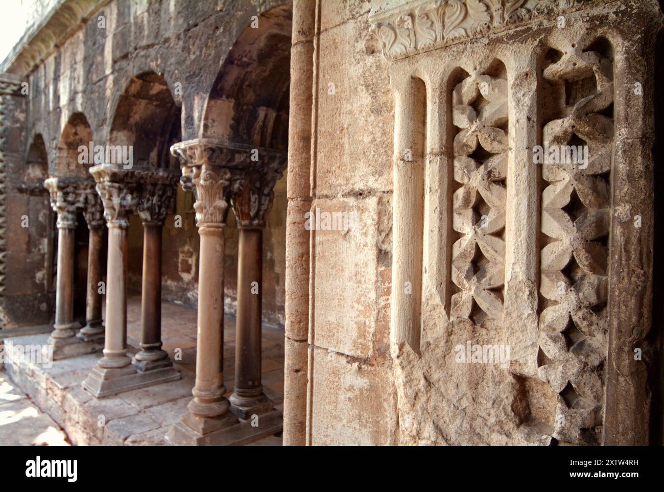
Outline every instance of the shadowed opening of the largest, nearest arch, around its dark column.
<svg viewBox="0 0 664 492">
<path fill-rule="evenodd" d="M 201 136 L 252 147 L 288 149 L 292 5 L 248 18 L 222 62 L 203 110 Z M 256 26 L 258 19 L 258 27 Z M 284 325 L 286 275 L 286 172 L 274 186 L 264 229 L 263 319 Z M 224 282 L 226 308 L 234 311 L 238 278 L 238 229 L 228 215 Z"/>
</svg>

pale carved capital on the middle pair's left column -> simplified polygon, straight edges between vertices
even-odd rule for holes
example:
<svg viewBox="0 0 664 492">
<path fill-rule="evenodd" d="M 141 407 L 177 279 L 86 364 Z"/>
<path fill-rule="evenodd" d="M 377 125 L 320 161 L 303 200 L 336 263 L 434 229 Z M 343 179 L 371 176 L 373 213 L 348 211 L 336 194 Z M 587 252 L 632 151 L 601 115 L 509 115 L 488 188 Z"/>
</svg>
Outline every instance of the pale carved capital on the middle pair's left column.
<svg viewBox="0 0 664 492">
<path fill-rule="evenodd" d="M 90 174 L 97 183 L 108 226 L 129 227 L 129 216 L 135 212 L 139 199 L 136 173 L 99 164 L 90 167 Z"/>
</svg>

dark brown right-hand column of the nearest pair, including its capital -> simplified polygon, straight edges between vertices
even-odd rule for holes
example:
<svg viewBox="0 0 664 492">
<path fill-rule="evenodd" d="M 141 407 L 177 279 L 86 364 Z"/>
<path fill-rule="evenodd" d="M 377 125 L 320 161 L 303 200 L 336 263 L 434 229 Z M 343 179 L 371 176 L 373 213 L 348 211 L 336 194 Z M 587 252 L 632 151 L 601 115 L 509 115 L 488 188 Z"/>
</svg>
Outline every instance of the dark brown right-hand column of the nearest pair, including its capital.
<svg viewBox="0 0 664 492">
<path fill-rule="evenodd" d="M 230 403 L 231 412 L 240 419 L 272 410 L 261 384 L 263 229 L 286 156 L 266 155 L 259 164 L 246 173 L 244 189 L 232 198 L 239 248 L 235 387 Z"/>
</svg>

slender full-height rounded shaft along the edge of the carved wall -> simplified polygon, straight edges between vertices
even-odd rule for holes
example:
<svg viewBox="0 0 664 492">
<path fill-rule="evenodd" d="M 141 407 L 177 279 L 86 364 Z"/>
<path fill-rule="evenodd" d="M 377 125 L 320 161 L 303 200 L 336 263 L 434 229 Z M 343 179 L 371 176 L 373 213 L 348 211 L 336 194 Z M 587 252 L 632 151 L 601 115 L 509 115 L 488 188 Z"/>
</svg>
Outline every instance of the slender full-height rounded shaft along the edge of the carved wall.
<svg viewBox="0 0 664 492">
<path fill-rule="evenodd" d="M 315 165 L 311 138 L 314 94 L 316 3 L 293 0 L 290 117 L 288 121 L 288 211 L 286 212 L 286 337 L 284 368 L 284 446 L 304 446 L 307 426 L 309 355 L 309 240 L 304 228 L 311 210 Z M 317 42 L 317 41 L 316 41 Z M 313 154 L 315 155 L 315 154 Z M 314 177 L 314 181 L 311 177 Z"/>
</svg>

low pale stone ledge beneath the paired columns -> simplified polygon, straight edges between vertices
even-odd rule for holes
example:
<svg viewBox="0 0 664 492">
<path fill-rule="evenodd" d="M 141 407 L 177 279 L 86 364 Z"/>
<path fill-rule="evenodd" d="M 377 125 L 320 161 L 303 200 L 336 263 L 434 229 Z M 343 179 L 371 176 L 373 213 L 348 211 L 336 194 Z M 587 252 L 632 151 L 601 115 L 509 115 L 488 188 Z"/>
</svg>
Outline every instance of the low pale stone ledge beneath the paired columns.
<svg viewBox="0 0 664 492">
<path fill-rule="evenodd" d="M 47 340 L 48 334 L 41 334 L 5 341 L 11 341 L 15 347 L 42 345 Z M 128 351 L 132 353 L 135 349 L 128 347 Z M 191 400 L 193 374 L 176 363 L 180 380 L 96 399 L 82 388 L 82 381 L 100 357 L 100 353 L 82 355 L 53 361 L 51 367 L 44 367 L 17 360 L 10 349 L 5 370 L 76 446 L 166 446 L 164 436 L 179 422 Z M 273 382 L 270 374 L 266 374 L 266 385 Z M 227 381 L 226 387 L 232 388 L 232 381 Z M 230 391 L 226 396 L 230 396 Z M 276 408 L 281 411 L 283 405 Z M 275 439 L 281 438 L 270 436 L 262 445 L 273 445 Z"/>
</svg>

